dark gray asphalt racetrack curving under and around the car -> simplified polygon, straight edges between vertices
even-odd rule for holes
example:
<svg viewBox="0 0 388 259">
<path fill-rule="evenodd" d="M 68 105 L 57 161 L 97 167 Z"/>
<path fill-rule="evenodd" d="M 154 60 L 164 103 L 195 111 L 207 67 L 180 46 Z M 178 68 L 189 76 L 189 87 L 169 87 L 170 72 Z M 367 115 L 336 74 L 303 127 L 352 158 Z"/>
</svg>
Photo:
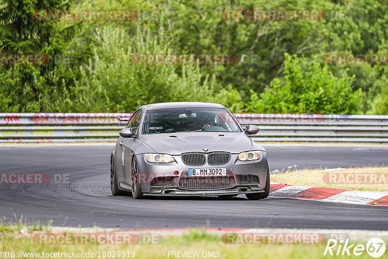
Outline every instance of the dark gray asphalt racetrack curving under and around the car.
<svg viewBox="0 0 388 259">
<path fill-rule="evenodd" d="M 388 146 L 263 145 L 270 170 L 355 167 L 388 162 Z M 275 227 L 388 229 L 385 206 L 268 197 L 179 197 L 134 200 L 109 187 L 113 145 L 0 146 L 0 173 L 45 173 L 60 183 L 0 184 L 0 217 L 49 220 L 53 226 L 175 228 Z"/>
</svg>

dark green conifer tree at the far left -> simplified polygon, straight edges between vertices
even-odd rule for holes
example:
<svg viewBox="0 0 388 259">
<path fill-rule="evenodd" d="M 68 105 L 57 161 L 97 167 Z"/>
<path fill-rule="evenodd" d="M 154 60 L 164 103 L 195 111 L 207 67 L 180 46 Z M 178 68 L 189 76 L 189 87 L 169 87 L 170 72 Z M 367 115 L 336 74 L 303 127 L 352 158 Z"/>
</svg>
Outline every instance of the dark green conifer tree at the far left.
<svg viewBox="0 0 388 259">
<path fill-rule="evenodd" d="M 58 22 L 36 19 L 35 14 L 39 10 L 68 10 L 70 5 L 66 0 L 3 0 L 0 5 L 1 53 L 47 54 L 49 57 L 64 53 L 71 27 L 62 28 Z M 2 109 L 11 111 L 19 107 L 21 111 L 43 111 L 41 100 L 50 99 L 53 92 L 60 90 L 52 81 L 54 69 L 55 64 L 1 65 L 4 80 L 13 81 L 0 87 L 1 95 L 9 98 Z"/>
</svg>

